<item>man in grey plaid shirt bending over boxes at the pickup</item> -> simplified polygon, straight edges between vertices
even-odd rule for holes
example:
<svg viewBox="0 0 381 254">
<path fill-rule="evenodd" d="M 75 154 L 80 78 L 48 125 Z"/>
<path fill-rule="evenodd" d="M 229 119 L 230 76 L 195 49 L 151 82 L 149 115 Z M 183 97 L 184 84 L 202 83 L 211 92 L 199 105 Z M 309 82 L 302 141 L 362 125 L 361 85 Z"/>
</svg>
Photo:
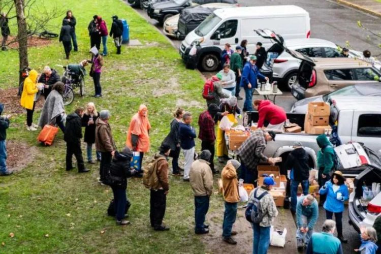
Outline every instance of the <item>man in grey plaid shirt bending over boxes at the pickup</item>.
<svg viewBox="0 0 381 254">
<path fill-rule="evenodd" d="M 242 178 L 245 183 L 253 183 L 257 187 L 257 166 L 260 161 L 274 165 L 272 158 L 263 154 L 267 142 L 272 140 L 275 141 L 275 132 L 265 132 L 259 129 L 253 132 L 238 148 L 238 154 L 241 160 L 240 178 Z"/>
</svg>

